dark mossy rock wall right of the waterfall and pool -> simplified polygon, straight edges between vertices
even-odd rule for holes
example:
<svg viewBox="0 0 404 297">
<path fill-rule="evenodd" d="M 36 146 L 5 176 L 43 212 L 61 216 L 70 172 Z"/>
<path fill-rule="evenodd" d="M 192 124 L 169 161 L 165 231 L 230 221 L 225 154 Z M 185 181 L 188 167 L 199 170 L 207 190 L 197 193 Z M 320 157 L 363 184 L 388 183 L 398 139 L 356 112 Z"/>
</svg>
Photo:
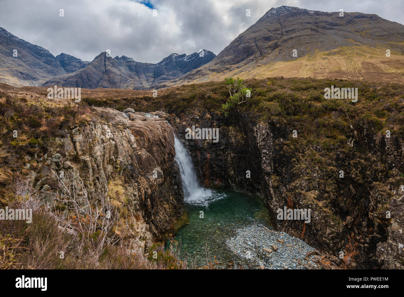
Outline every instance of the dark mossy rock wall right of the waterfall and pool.
<svg viewBox="0 0 404 297">
<path fill-rule="evenodd" d="M 334 257 L 343 252 L 346 267 L 400 266 L 404 203 L 398 198 L 404 192 L 394 176 L 404 170 L 403 139 L 358 131 L 367 148 L 335 155 L 326 161 L 329 172 L 323 169 L 324 160 L 310 159 L 311 148 L 288 145 L 291 131 L 277 123 L 258 125 L 246 114 L 239 122 L 229 122 L 208 113 L 174 117 L 173 123 L 206 186 L 230 186 L 258 195 L 279 230 Z M 185 129 L 192 125 L 219 128 L 219 142 L 186 140 Z M 344 178 L 339 178 L 341 168 Z M 285 206 L 311 209 L 311 221 L 278 220 L 276 211 Z"/>
</svg>

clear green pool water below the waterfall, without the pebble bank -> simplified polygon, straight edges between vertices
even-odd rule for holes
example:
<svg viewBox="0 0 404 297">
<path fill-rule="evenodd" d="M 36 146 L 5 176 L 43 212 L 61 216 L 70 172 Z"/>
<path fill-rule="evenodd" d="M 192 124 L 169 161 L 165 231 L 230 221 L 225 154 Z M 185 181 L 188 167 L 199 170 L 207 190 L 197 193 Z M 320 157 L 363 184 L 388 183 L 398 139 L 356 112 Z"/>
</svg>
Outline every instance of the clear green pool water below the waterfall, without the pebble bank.
<svg viewBox="0 0 404 297">
<path fill-rule="evenodd" d="M 176 234 L 181 240 L 183 257 L 196 261 L 198 267 L 206 266 L 206 253 L 210 261 L 248 265 L 226 246 L 226 240 L 236 234 L 237 228 L 252 223 L 268 224 L 269 215 L 263 203 L 240 192 L 225 189 L 199 188 L 198 191 L 185 198 L 185 208 L 189 225 Z M 203 218 L 202 213 L 203 211 Z"/>
</svg>

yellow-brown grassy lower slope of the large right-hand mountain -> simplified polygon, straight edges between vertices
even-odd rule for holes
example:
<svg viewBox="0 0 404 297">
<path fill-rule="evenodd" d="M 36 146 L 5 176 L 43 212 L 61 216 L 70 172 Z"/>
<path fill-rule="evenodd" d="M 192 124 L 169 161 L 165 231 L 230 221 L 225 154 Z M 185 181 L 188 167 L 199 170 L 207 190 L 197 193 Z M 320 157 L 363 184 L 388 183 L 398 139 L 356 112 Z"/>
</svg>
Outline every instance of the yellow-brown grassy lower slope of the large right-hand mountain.
<svg viewBox="0 0 404 297">
<path fill-rule="evenodd" d="M 282 54 L 274 51 L 273 54 Z M 328 52 L 316 51 L 292 61 L 241 62 L 230 69 L 215 68 L 211 63 L 203 65 L 197 72 L 191 71 L 184 77 L 164 83 L 174 87 L 183 84 L 199 84 L 209 81 L 221 82 L 226 77 L 242 79 L 264 79 L 267 77 L 314 77 L 335 79 L 355 79 L 368 82 L 402 83 L 404 78 L 403 54 L 392 52 L 386 58 L 378 48 L 370 46 L 344 46 Z M 212 69 L 214 69 L 212 71 Z"/>
</svg>

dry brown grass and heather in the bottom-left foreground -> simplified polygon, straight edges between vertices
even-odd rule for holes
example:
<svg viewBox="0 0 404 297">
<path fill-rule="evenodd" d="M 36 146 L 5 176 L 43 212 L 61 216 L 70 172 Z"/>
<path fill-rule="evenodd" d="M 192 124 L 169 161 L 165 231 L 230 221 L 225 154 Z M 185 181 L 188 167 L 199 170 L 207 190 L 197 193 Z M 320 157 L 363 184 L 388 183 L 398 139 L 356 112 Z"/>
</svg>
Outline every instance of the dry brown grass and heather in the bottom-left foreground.
<svg viewBox="0 0 404 297">
<path fill-rule="evenodd" d="M 15 206 L 14 206 L 15 207 Z M 88 236 L 96 236 L 88 234 Z M 161 261 L 150 261 L 125 245 L 106 245 L 102 250 L 86 245 L 78 236 L 63 232 L 41 208 L 32 223 L 0 221 L 0 269 L 167 269 L 180 264 L 168 250 Z M 63 253 L 61 253 L 63 252 Z M 63 254 L 63 257 L 61 255 Z M 186 268 L 179 265 L 178 268 Z"/>
</svg>

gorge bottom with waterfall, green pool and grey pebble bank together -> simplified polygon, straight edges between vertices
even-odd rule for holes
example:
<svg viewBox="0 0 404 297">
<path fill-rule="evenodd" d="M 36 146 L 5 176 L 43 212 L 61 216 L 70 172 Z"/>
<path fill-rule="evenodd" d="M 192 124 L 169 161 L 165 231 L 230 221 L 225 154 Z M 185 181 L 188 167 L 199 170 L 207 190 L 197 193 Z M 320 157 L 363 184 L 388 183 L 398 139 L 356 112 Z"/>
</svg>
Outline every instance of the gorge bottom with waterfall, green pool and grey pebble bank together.
<svg viewBox="0 0 404 297">
<path fill-rule="evenodd" d="M 317 267 L 304 259 L 312 247 L 274 230 L 262 201 L 226 188 L 200 187 L 191 157 L 176 136 L 175 153 L 189 218 L 177 237 L 181 256 L 194 261 L 195 268 L 302 269 L 305 262 Z"/>
</svg>

